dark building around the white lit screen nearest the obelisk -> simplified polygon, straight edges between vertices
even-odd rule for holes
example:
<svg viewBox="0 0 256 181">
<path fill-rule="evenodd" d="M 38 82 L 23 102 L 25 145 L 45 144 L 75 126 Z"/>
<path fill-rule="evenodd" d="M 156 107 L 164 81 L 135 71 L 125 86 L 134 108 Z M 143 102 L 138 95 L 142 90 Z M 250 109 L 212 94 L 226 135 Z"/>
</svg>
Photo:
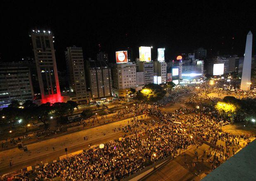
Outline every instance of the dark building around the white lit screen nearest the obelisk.
<svg viewBox="0 0 256 181">
<path fill-rule="evenodd" d="M 224 64 L 223 74 L 227 74 L 229 72 L 229 60 L 223 56 L 213 57 L 207 60 L 207 74 L 213 75 L 213 67 L 214 64 Z"/>
</svg>

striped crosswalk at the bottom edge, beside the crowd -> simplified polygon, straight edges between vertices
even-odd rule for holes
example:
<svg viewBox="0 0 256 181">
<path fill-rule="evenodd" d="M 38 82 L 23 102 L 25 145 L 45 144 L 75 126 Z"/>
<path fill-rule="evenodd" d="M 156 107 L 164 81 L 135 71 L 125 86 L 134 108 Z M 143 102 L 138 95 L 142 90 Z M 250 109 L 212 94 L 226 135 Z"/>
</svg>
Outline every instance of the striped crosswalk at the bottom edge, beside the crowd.
<svg viewBox="0 0 256 181">
<path fill-rule="evenodd" d="M 171 172 L 168 172 L 163 178 L 159 179 L 158 181 L 178 181 L 180 180 L 185 174 L 187 174 L 189 171 L 182 167 L 181 165 L 178 165 L 174 169 L 171 170 Z"/>
</svg>

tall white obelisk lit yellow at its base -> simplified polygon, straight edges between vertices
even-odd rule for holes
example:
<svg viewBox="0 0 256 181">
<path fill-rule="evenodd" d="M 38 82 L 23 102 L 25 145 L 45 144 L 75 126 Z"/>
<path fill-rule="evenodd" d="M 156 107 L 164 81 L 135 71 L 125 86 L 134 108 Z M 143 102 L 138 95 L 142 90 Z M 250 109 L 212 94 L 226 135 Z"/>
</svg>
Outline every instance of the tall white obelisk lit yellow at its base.
<svg viewBox="0 0 256 181">
<path fill-rule="evenodd" d="M 250 90 L 251 87 L 251 51 L 252 51 L 252 33 L 249 31 L 246 38 L 244 64 L 242 72 L 241 90 Z"/>
</svg>

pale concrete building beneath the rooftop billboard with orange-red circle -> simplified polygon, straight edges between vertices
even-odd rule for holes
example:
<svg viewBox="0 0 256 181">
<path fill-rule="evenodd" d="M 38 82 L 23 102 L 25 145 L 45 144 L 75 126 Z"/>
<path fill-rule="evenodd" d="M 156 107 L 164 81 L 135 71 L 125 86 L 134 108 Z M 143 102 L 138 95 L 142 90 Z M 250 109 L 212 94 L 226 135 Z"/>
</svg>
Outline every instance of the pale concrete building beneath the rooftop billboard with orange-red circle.
<svg viewBox="0 0 256 181">
<path fill-rule="evenodd" d="M 136 88 L 136 64 L 116 64 L 112 68 L 113 92 L 116 97 L 126 97 L 130 88 Z"/>
</svg>

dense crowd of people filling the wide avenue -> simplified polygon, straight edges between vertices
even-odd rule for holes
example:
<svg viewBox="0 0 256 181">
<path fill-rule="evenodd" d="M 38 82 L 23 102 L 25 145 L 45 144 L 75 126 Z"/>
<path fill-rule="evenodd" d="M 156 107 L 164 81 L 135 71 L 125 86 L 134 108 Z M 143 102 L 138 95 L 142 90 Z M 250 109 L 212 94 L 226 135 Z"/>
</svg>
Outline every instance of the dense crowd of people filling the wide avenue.
<svg viewBox="0 0 256 181">
<path fill-rule="evenodd" d="M 168 90 L 170 96 L 166 98 L 165 102 L 170 102 L 178 95 L 191 90 L 194 90 L 194 87 L 184 86 L 177 90 Z M 215 101 L 204 95 L 198 96 L 192 96 L 190 103 L 197 102 L 199 99 Z M 63 180 L 73 181 L 120 180 L 140 171 L 147 165 L 167 157 L 173 157 L 178 151 L 195 145 L 197 138 L 215 145 L 218 140 L 224 140 L 225 146 L 216 146 L 225 148 L 227 157 L 231 151 L 230 145 L 239 145 L 240 139 L 247 140 L 249 143 L 249 135 L 236 136 L 223 132 L 221 128 L 228 124 L 228 121 L 220 118 L 217 114 L 205 114 L 204 111 L 190 114 L 196 111 L 196 109 L 190 108 L 181 108 L 172 113 L 161 111 L 161 106 L 166 104 L 132 104 L 131 107 L 127 107 L 117 114 L 121 118 L 124 114 L 134 113 L 130 123 L 119 128 L 119 131 L 127 132 L 128 136 L 104 144 L 104 148 L 84 150 L 83 153 L 69 159 L 24 172 L 14 179 L 30 181 L 60 177 Z M 187 113 L 186 116 L 181 116 L 185 113 Z M 143 118 L 142 115 L 145 115 L 144 118 L 146 115 L 152 117 L 155 123 L 143 123 L 141 119 L 138 119 L 140 116 Z M 211 160 L 213 169 L 220 164 L 220 162 L 216 162 L 219 159 L 216 155 L 213 155 L 212 158 L 209 153 L 207 158 L 213 159 Z"/>
</svg>

